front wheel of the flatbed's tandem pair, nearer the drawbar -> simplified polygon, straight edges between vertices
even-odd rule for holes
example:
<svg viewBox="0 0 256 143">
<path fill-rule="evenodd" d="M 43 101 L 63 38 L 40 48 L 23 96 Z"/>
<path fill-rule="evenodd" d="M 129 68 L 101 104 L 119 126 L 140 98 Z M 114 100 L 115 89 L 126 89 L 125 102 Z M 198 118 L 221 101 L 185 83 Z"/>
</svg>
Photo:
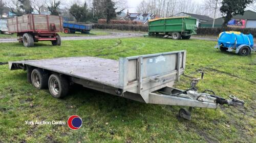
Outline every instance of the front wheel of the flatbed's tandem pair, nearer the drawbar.
<svg viewBox="0 0 256 143">
<path fill-rule="evenodd" d="M 69 82 L 65 77 L 52 74 L 48 80 L 49 91 L 54 98 L 62 98 L 69 92 Z"/>
</svg>

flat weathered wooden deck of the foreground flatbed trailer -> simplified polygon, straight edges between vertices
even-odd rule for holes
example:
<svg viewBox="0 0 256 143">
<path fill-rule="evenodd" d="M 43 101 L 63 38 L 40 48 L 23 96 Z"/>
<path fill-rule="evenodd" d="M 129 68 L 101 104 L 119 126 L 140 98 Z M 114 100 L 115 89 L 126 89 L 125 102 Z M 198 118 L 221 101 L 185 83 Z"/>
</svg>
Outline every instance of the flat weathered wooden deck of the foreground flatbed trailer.
<svg viewBox="0 0 256 143">
<path fill-rule="evenodd" d="M 19 64 L 30 65 L 122 89 L 118 85 L 119 62 L 115 60 L 86 56 L 17 61 L 9 62 L 9 69 L 17 69 Z"/>
</svg>

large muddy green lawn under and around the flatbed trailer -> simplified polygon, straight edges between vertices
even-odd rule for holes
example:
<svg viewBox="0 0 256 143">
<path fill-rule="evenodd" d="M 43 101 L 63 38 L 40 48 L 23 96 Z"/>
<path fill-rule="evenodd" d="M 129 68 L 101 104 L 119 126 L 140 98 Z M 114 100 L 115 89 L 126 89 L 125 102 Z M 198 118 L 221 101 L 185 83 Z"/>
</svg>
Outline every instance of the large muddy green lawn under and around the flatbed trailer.
<svg viewBox="0 0 256 143">
<path fill-rule="evenodd" d="M 50 42 L 25 48 L 0 43 L 0 142 L 256 142 L 256 53 L 239 56 L 214 49 L 216 42 L 160 38 Z M 175 87 L 186 89 L 191 78 L 204 80 L 198 90 L 211 89 L 228 98 L 243 99 L 245 107 L 196 108 L 192 120 L 180 119 L 178 106 L 152 105 L 94 90 L 72 87 L 64 99 L 48 90 L 36 90 L 26 81 L 26 71 L 9 71 L 8 61 L 98 56 L 119 56 L 187 50 L 186 69 Z M 67 121 L 79 115 L 79 130 L 67 125 L 26 125 L 25 121 Z"/>
</svg>

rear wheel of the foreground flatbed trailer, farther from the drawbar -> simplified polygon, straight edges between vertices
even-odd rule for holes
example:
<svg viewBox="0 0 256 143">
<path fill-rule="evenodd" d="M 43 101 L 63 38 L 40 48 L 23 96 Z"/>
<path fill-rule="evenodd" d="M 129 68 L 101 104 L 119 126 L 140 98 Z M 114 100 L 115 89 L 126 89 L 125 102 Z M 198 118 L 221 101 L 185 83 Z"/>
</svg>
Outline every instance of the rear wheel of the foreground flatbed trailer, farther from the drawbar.
<svg viewBox="0 0 256 143">
<path fill-rule="evenodd" d="M 34 69 L 31 73 L 32 85 L 38 90 L 47 88 L 48 74 L 41 69 Z"/>
</svg>

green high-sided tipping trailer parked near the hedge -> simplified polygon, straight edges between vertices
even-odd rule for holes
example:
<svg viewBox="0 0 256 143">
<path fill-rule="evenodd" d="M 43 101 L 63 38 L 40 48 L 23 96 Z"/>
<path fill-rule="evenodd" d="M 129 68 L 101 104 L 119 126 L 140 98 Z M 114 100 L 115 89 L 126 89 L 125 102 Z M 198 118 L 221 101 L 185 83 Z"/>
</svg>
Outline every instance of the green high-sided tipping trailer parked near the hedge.
<svg viewBox="0 0 256 143">
<path fill-rule="evenodd" d="M 172 36 L 173 39 L 189 39 L 197 34 L 197 19 L 186 17 L 168 17 L 148 21 L 149 36 Z"/>
</svg>

